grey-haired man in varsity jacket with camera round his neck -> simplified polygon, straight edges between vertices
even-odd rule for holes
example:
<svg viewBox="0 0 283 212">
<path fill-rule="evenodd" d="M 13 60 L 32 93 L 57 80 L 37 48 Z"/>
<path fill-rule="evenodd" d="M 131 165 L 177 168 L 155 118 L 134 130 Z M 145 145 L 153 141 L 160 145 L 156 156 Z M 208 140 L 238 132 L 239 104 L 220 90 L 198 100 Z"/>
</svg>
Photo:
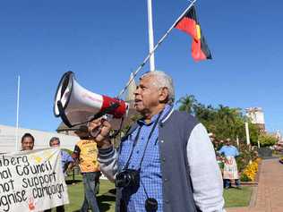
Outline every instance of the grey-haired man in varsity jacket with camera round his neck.
<svg viewBox="0 0 283 212">
<path fill-rule="evenodd" d="M 116 150 L 105 120 L 90 123 L 100 170 L 116 182 L 116 211 L 222 212 L 223 184 L 209 135 L 190 114 L 174 110 L 174 86 L 165 72 L 147 72 L 134 91 L 142 118 Z"/>
</svg>

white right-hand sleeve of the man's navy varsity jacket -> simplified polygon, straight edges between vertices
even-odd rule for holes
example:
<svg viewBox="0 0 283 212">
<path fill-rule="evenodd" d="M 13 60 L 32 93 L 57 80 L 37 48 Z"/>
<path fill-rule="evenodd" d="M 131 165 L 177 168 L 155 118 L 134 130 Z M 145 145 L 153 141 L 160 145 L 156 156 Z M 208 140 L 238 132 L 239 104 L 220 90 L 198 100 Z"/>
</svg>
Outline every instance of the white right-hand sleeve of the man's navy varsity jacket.
<svg viewBox="0 0 283 212">
<path fill-rule="evenodd" d="M 193 199 L 202 212 L 223 212 L 223 180 L 208 132 L 197 124 L 187 144 Z"/>
</svg>

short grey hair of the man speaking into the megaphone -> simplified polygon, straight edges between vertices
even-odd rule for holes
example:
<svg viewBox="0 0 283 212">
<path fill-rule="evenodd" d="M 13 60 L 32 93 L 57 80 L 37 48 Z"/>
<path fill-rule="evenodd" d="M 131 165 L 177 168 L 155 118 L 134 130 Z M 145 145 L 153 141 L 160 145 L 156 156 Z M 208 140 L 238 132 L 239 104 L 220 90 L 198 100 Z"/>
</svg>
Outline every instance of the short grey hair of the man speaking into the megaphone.
<svg viewBox="0 0 283 212">
<path fill-rule="evenodd" d="M 165 72 L 154 71 L 154 72 L 146 72 L 142 75 L 140 80 L 144 77 L 153 76 L 156 81 L 153 82 L 154 86 L 158 89 L 167 88 L 168 89 L 168 101 L 167 103 L 172 105 L 175 100 L 175 89 L 172 78 L 167 75 Z"/>
</svg>

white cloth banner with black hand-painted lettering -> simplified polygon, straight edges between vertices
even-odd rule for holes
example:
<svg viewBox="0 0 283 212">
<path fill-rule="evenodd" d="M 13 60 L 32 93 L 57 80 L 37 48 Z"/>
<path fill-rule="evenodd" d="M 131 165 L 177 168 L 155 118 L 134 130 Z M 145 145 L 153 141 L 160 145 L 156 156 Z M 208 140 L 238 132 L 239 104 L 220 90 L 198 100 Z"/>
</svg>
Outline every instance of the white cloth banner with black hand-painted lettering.
<svg viewBox="0 0 283 212">
<path fill-rule="evenodd" d="M 35 212 L 68 203 L 59 148 L 0 155 L 0 211 Z"/>
</svg>

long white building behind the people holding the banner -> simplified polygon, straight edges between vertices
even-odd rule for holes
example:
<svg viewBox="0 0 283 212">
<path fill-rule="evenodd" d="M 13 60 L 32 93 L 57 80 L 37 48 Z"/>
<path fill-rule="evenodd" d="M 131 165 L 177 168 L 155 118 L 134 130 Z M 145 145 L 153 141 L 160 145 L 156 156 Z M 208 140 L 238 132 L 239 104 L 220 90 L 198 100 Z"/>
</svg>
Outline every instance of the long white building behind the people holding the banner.
<svg viewBox="0 0 283 212">
<path fill-rule="evenodd" d="M 61 140 L 61 148 L 73 150 L 75 143 L 80 140 L 79 137 L 64 135 L 51 131 L 36 131 L 30 129 L 19 128 L 18 130 L 18 145 L 16 142 L 16 128 L 12 126 L 0 125 L 0 152 L 13 152 L 21 150 L 21 136 L 29 132 L 35 139 L 34 148 L 47 148 L 49 140 L 52 137 L 58 137 Z"/>
</svg>

